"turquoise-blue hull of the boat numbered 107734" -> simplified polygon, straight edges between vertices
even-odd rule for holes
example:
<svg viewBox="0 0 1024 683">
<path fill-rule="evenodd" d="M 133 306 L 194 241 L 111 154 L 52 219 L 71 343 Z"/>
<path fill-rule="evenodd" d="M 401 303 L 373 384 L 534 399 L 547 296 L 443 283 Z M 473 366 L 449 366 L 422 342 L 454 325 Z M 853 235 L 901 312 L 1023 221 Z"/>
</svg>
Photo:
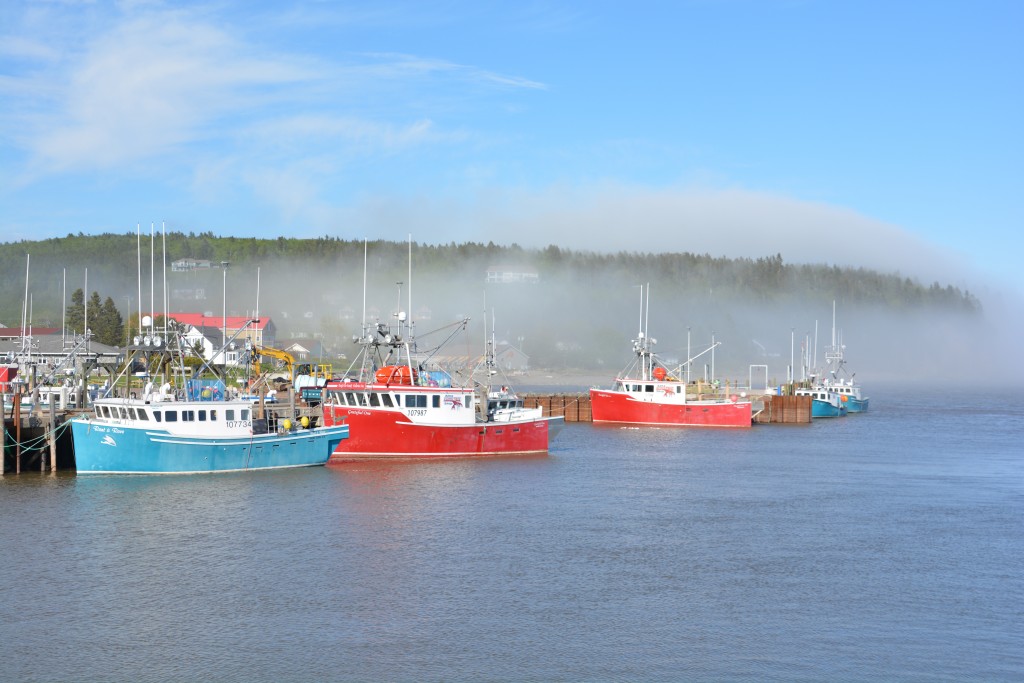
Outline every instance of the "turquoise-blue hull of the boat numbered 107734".
<svg viewBox="0 0 1024 683">
<path fill-rule="evenodd" d="M 72 420 L 79 474 L 198 474 L 312 467 L 327 463 L 348 425 L 242 437 L 172 436 L 144 429 Z"/>
</svg>

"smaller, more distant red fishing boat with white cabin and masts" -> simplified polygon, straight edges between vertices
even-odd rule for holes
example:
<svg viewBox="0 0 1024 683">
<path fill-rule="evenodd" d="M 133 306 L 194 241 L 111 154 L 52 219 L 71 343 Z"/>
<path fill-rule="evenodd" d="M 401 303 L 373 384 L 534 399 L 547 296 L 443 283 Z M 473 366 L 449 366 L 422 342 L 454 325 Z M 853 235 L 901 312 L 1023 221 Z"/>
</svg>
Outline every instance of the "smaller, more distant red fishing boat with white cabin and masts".
<svg viewBox="0 0 1024 683">
<path fill-rule="evenodd" d="M 641 310 L 643 290 L 641 289 Z M 646 327 L 641 321 L 641 327 Z M 633 340 L 634 359 L 615 378 L 611 389 L 591 389 L 595 423 L 660 427 L 750 427 L 751 401 L 743 394 L 721 394 L 712 384 L 691 385 L 662 364 L 653 352 L 655 340 L 641 329 Z M 701 351 L 696 357 L 718 344 Z M 675 369 L 680 372 L 681 367 Z M 689 391 L 688 391 L 689 390 Z"/>
</svg>

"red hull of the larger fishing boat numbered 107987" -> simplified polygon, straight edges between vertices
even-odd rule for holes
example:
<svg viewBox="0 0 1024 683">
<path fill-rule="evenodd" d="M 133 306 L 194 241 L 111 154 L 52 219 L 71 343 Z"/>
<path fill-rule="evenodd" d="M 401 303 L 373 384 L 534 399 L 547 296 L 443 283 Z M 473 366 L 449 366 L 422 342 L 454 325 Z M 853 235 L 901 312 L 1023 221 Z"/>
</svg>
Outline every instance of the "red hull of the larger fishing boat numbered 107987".
<svg viewBox="0 0 1024 683">
<path fill-rule="evenodd" d="M 550 420 L 471 425 L 415 424 L 397 411 L 333 405 L 325 422 L 345 422 L 349 438 L 329 462 L 436 459 L 542 454 L 548 452 Z"/>
</svg>

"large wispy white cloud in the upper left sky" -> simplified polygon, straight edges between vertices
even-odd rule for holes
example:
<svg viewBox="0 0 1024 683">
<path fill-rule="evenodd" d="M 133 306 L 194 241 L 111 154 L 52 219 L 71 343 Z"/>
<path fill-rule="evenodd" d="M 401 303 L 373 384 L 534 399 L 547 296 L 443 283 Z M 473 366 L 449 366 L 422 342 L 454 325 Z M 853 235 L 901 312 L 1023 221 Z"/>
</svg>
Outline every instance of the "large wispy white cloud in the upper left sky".
<svg viewBox="0 0 1024 683">
<path fill-rule="evenodd" d="M 400 106 L 381 108 L 383 118 L 354 112 L 360 96 L 372 90 L 391 90 L 382 96 L 394 101 L 418 85 L 422 92 L 438 78 L 501 88 L 544 87 L 409 54 L 351 54 L 347 61 L 326 61 L 249 43 L 241 32 L 224 28 L 229 25 L 200 12 L 136 9 L 80 46 L 65 45 L 60 54 L 44 50 L 43 41 L 7 45 L 8 51 L 51 65 L 0 83 L 14 100 L 14 112 L 6 118 L 23 120 L 17 137 L 9 134 L 8 142 L 26 152 L 31 178 L 170 158 L 188 164 L 196 145 L 207 142 L 229 144 L 230 154 L 255 156 L 259 163 L 268 140 L 279 140 L 271 146 L 282 147 L 279 136 L 295 142 L 327 135 L 336 143 L 384 152 L 428 138 L 457 142 L 461 133 L 442 134 L 427 119 L 389 120 Z M 32 89 L 37 99 L 47 100 L 45 106 L 29 111 L 22 93 Z M 282 117 L 286 111 L 289 115 Z M 292 153 L 310 151 L 300 145 Z"/>
</svg>

